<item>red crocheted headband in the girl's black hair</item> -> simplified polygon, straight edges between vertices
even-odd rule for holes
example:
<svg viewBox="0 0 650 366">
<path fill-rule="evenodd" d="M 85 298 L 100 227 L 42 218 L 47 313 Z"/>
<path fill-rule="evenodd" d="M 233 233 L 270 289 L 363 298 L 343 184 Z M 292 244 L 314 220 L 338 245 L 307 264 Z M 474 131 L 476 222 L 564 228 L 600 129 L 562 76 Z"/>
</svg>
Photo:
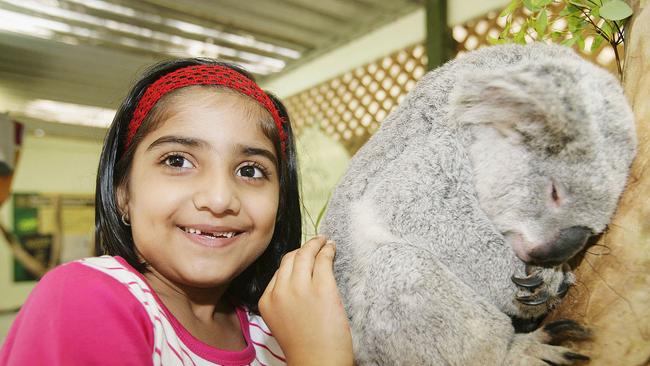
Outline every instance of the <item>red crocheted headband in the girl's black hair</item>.
<svg viewBox="0 0 650 366">
<path fill-rule="evenodd" d="M 151 108 L 153 108 L 163 95 L 172 90 L 190 85 L 221 85 L 255 99 L 271 113 L 273 121 L 275 121 L 275 126 L 278 128 L 282 153 L 285 152 L 286 134 L 282 128 L 282 124 L 285 121 L 280 117 L 280 112 L 275 107 L 275 104 L 273 104 L 273 101 L 271 101 L 271 98 L 253 80 L 229 67 L 221 65 L 193 65 L 183 67 L 164 75 L 149 85 L 142 98 L 140 98 L 133 112 L 133 117 L 129 122 L 124 150 L 126 151 L 129 148 L 142 121 L 144 121 Z"/>
</svg>

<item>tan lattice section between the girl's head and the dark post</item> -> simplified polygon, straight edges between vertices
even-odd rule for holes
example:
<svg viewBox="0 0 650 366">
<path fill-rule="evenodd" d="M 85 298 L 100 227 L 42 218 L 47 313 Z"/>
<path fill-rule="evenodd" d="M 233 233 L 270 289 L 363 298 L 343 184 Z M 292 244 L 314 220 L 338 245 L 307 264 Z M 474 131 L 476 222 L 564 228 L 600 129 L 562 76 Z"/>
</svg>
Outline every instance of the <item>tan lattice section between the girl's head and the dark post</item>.
<svg viewBox="0 0 650 366">
<path fill-rule="evenodd" d="M 355 153 L 424 75 L 425 53 L 408 47 L 287 98 L 296 134 L 317 124 Z"/>
</svg>

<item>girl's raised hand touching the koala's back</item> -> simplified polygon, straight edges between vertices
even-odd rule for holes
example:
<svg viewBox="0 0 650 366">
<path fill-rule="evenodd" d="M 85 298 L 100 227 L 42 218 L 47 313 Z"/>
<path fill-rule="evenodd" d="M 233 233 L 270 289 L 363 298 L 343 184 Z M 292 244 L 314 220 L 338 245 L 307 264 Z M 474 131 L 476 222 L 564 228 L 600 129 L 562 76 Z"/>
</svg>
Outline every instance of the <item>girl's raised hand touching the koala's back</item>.
<svg viewBox="0 0 650 366">
<path fill-rule="evenodd" d="M 289 365 L 352 365 L 352 336 L 332 264 L 334 242 L 317 236 L 287 253 L 259 302 Z"/>
</svg>

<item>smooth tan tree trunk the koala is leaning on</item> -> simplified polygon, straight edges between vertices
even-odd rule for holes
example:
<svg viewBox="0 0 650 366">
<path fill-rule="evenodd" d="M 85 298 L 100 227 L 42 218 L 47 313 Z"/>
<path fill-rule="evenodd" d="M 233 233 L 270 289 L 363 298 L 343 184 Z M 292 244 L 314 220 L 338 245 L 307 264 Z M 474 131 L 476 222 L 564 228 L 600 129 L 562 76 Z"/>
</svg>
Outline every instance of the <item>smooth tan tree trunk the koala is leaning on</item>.
<svg viewBox="0 0 650 366">
<path fill-rule="evenodd" d="M 591 341 L 572 345 L 592 358 L 589 365 L 650 364 L 650 4 L 631 6 L 624 87 L 636 118 L 637 157 L 609 230 L 587 249 L 576 286 L 552 314 L 592 329 Z"/>
</svg>

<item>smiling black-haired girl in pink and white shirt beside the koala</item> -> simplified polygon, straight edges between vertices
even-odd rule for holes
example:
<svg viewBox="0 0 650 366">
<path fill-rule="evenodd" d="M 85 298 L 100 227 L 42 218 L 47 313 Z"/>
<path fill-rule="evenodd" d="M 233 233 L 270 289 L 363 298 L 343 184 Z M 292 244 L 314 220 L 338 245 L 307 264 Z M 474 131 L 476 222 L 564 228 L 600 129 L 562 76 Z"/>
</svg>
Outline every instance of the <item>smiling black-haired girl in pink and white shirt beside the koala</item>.
<svg viewBox="0 0 650 366">
<path fill-rule="evenodd" d="M 284 106 L 246 72 L 154 66 L 100 157 L 105 255 L 40 281 L 0 364 L 351 364 L 333 244 L 298 249 L 296 171 Z"/>
</svg>

